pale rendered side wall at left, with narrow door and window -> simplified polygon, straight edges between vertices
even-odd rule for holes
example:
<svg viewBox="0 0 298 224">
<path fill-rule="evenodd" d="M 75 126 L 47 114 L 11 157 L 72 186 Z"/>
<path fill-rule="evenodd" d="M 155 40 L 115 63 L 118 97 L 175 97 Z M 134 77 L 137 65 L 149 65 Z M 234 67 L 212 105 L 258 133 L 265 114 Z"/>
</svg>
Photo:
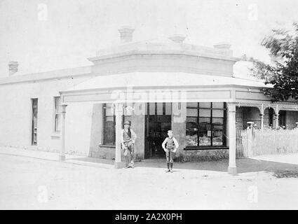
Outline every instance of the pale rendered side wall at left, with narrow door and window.
<svg viewBox="0 0 298 224">
<path fill-rule="evenodd" d="M 60 151 L 60 135 L 53 134 L 53 97 L 60 90 L 86 78 L 36 81 L 0 85 L 0 146 Z M 37 146 L 31 146 L 31 99 L 38 98 Z M 90 113 L 87 104 L 69 105 L 66 114 L 66 149 L 86 154 L 90 141 Z"/>
</svg>

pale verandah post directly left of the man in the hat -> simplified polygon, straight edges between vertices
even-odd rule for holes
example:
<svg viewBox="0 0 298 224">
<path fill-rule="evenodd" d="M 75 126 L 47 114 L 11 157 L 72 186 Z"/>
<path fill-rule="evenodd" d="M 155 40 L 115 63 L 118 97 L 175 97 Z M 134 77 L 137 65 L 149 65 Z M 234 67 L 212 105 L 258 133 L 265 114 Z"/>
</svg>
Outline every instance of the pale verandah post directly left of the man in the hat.
<svg viewBox="0 0 298 224">
<path fill-rule="evenodd" d="M 116 137 L 115 137 L 115 162 L 114 167 L 116 169 L 123 168 L 123 163 L 121 161 L 121 124 L 122 124 L 122 114 L 123 114 L 123 104 L 115 104 L 115 113 L 116 113 Z"/>
</svg>

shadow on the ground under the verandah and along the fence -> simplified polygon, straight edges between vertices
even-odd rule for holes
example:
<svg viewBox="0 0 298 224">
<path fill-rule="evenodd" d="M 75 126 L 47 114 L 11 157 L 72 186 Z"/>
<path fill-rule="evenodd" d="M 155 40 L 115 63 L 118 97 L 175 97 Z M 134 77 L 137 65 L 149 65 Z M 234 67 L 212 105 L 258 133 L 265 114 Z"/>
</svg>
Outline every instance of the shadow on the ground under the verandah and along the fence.
<svg viewBox="0 0 298 224">
<path fill-rule="evenodd" d="M 72 160 L 114 165 L 114 160 L 107 160 L 107 159 L 101 159 L 101 158 L 76 158 Z M 209 171 L 215 171 L 215 172 L 227 172 L 228 165 L 229 165 L 229 160 L 174 162 L 174 169 L 197 169 L 197 170 L 209 170 Z M 237 165 L 238 174 L 248 173 L 248 172 L 273 172 L 273 175 L 277 177 L 290 177 L 290 176 L 287 176 L 286 174 L 292 174 L 292 177 L 298 176 L 298 165 L 294 165 L 290 163 L 241 158 L 236 160 L 236 165 Z M 135 162 L 135 167 L 165 168 L 166 164 L 164 159 L 142 160 L 140 162 Z M 280 175 L 280 174 L 285 174 L 285 175 Z"/>
</svg>

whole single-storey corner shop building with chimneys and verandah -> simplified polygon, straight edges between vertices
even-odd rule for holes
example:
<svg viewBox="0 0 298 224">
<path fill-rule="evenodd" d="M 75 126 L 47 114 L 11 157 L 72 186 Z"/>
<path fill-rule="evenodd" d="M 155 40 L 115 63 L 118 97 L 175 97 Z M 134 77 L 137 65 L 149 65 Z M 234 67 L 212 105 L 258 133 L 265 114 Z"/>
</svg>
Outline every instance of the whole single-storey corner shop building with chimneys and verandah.
<svg viewBox="0 0 298 224">
<path fill-rule="evenodd" d="M 0 145 L 115 158 L 119 132 L 131 120 L 139 159 L 163 155 L 168 130 L 180 142 L 177 160 L 229 158 L 236 172 L 236 129 L 295 127 L 298 105 L 271 103 L 264 83 L 233 57 L 229 43 L 213 48 L 184 43 L 184 36 L 133 41 L 134 29 L 118 29 L 121 43 L 88 58 L 92 66 L 0 80 Z M 270 86 L 268 86 L 270 87 Z"/>
</svg>

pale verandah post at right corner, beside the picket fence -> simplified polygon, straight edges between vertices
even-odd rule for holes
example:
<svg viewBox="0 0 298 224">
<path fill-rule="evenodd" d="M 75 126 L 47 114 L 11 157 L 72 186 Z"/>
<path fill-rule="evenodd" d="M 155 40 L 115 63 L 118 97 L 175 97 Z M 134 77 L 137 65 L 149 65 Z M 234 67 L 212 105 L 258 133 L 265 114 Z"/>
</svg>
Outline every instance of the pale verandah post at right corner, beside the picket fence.
<svg viewBox="0 0 298 224">
<path fill-rule="evenodd" d="M 236 168 L 236 103 L 228 103 L 229 116 L 229 167 L 228 173 L 237 174 Z"/>
</svg>

